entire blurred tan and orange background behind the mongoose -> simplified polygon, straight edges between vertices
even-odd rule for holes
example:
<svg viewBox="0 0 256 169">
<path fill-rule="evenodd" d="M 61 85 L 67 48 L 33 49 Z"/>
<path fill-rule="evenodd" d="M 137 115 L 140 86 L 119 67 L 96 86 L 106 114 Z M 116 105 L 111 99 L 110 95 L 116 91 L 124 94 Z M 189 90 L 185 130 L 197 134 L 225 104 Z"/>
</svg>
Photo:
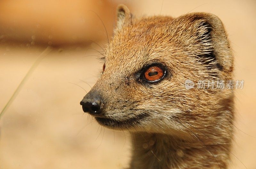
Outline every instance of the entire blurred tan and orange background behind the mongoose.
<svg viewBox="0 0 256 169">
<path fill-rule="evenodd" d="M 205 11 L 221 18 L 235 54 L 235 79 L 244 80 L 244 88 L 236 90 L 230 168 L 256 168 L 254 0 L 164 0 L 163 6 L 145 0 L 1 0 L 0 111 L 30 67 L 42 60 L 1 115 L 0 168 L 127 167 L 130 133 L 102 128 L 79 105 L 84 89 L 99 77 L 97 56 L 111 40 L 121 3 L 136 16 Z"/>
</svg>

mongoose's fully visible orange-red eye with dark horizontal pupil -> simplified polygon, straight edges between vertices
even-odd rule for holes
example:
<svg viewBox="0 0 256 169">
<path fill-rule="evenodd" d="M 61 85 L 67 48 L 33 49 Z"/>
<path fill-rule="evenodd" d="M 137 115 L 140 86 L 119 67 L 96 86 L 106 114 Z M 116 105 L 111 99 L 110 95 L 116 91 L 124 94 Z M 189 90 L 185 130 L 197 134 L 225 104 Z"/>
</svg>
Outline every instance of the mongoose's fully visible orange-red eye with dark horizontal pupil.
<svg viewBox="0 0 256 169">
<path fill-rule="evenodd" d="M 164 71 L 160 67 L 152 66 L 146 70 L 144 76 L 148 81 L 157 81 L 164 76 Z"/>
</svg>

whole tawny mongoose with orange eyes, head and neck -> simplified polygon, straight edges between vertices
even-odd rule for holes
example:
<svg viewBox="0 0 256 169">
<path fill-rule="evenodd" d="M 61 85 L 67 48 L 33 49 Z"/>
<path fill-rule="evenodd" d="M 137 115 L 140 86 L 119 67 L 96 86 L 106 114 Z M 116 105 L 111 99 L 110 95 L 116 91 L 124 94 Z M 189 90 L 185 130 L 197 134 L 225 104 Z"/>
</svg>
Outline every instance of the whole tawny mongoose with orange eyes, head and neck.
<svg viewBox="0 0 256 169">
<path fill-rule="evenodd" d="M 132 133 L 130 168 L 227 168 L 233 138 L 233 55 L 220 19 L 196 12 L 135 18 L 117 8 L 103 73 L 80 102 L 101 125 Z M 185 88 L 186 80 L 195 83 Z"/>
</svg>

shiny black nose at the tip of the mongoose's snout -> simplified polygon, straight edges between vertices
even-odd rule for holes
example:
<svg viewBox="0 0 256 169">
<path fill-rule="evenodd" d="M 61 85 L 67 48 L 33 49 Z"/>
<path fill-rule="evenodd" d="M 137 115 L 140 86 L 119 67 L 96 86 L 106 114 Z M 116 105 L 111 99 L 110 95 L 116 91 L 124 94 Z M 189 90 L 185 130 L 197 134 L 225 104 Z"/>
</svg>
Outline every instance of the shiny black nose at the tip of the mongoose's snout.
<svg viewBox="0 0 256 169">
<path fill-rule="evenodd" d="M 97 115 L 102 112 L 102 103 L 101 101 L 81 101 L 84 112 L 89 112 L 91 114 Z"/>
</svg>

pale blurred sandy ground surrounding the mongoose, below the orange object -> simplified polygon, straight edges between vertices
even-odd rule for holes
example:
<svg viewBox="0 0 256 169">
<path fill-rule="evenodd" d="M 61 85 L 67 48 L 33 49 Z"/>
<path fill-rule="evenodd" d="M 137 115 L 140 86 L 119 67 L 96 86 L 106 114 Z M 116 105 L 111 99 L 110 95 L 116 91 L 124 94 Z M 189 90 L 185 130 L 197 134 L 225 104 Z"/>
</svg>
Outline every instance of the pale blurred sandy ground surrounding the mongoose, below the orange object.
<svg viewBox="0 0 256 169">
<path fill-rule="evenodd" d="M 162 2 L 134 4 L 135 15 L 154 15 L 160 14 Z M 236 79 L 245 81 L 244 88 L 236 90 L 235 125 L 239 130 L 230 166 L 236 169 L 245 168 L 240 161 L 249 169 L 256 168 L 255 7 L 255 1 L 164 1 L 161 11 L 161 15 L 174 17 L 191 10 L 211 12 L 226 25 L 236 58 Z M 36 67 L 1 118 L 0 168 L 127 166 L 130 134 L 100 127 L 79 105 L 85 95 L 82 88 L 89 91 L 102 68 L 94 56 L 84 57 L 96 54 L 88 48 L 97 45 L 53 48 Z M 0 44 L 0 109 L 44 49 L 26 44 Z"/>
</svg>

